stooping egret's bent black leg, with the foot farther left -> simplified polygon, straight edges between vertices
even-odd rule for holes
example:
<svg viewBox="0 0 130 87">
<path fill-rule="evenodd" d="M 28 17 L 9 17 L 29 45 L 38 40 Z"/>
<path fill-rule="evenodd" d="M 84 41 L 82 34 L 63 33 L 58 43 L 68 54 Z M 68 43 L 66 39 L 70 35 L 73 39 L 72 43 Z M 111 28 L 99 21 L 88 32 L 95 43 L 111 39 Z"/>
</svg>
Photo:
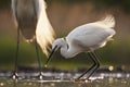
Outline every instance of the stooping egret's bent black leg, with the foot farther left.
<svg viewBox="0 0 130 87">
<path fill-rule="evenodd" d="M 88 54 L 89 54 L 89 57 L 91 58 L 91 60 L 93 61 L 93 64 L 92 64 L 92 66 L 91 67 L 89 67 L 83 74 L 81 74 L 77 79 L 80 79 L 82 76 L 84 76 L 88 72 L 90 72 L 94 66 L 96 66 L 96 61 L 95 61 L 95 59 L 93 58 L 93 55 L 90 53 L 90 52 L 88 52 Z M 89 76 L 90 77 L 90 76 Z M 89 78 L 89 77 L 87 77 L 87 78 Z"/>
</svg>

